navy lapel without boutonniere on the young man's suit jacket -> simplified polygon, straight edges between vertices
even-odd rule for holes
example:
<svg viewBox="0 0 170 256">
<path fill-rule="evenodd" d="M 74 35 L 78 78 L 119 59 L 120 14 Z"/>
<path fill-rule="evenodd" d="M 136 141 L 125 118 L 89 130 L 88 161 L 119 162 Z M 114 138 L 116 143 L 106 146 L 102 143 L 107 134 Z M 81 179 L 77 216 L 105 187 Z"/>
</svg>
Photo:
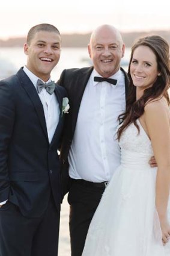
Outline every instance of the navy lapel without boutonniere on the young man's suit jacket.
<svg viewBox="0 0 170 256">
<path fill-rule="evenodd" d="M 29 80 L 26 73 L 22 70 L 22 68 L 17 72 L 17 76 L 19 77 L 20 83 L 25 89 L 26 93 L 29 96 L 29 99 L 31 100 L 32 104 L 34 105 L 35 112 L 37 113 L 38 119 L 40 120 L 41 126 L 43 128 L 44 134 L 48 140 L 48 134 L 47 134 L 47 127 L 46 127 L 46 119 L 44 116 L 44 110 L 43 105 L 41 104 L 40 98 L 38 96 L 38 93 L 34 87 L 34 84 L 32 84 L 31 80 Z"/>
</svg>

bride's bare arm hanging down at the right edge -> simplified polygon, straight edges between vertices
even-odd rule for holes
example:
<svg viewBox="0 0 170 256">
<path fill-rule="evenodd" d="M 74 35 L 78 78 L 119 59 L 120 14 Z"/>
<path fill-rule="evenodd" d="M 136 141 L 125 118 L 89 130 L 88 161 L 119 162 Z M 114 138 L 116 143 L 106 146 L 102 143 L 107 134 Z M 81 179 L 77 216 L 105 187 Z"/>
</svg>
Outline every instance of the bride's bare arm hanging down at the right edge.
<svg viewBox="0 0 170 256">
<path fill-rule="evenodd" d="M 170 125 L 169 108 L 164 99 L 150 102 L 145 107 L 145 124 L 157 162 L 156 208 L 162 228 L 163 243 L 168 242 L 170 226 L 167 206 L 170 189 Z"/>
</svg>

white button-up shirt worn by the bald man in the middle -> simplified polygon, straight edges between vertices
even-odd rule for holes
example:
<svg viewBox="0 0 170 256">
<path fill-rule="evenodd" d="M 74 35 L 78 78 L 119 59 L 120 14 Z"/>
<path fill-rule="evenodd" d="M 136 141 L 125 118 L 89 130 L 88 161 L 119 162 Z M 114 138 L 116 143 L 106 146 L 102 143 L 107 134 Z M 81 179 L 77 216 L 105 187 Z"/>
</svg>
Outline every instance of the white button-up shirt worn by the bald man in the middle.
<svg viewBox="0 0 170 256">
<path fill-rule="evenodd" d="M 94 76 L 100 76 L 96 70 L 83 93 L 68 162 L 71 178 L 100 183 L 111 180 L 120 164 L 115 133 L 118 115 L 126 107 L 126 96 L 121 70 L 110 77 L 117 79 L 116 86 L 94 82 Z"/>
</svg>

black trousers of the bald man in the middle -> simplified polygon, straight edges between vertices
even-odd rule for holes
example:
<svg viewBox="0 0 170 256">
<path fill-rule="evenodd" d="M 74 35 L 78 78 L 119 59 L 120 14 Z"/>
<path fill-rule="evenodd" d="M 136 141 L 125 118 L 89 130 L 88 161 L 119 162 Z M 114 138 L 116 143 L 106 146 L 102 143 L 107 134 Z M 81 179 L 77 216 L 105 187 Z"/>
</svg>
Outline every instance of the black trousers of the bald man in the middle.
<svg viewBox="0 0 170 256">
<path fill-rule="evenodd" d="M 70 204 L 71 256 L 81 256 L 91 219 L 105 188 L 72 183 L 68 193 Z"/>
</svg>

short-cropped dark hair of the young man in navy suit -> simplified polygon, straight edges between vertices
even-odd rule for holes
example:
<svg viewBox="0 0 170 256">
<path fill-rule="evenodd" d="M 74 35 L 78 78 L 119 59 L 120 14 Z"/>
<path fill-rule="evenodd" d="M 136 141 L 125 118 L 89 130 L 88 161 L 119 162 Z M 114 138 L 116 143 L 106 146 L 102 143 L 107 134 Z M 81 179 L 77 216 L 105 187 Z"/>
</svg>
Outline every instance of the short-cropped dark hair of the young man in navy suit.
<svg viewBox="0 0 170 256">
<path fill-rule="evenodd" d="M 51 25 L 51 24 L 47 24 L 47 23 L 42 23 L 42 24 L 38 24 L 38 25 L 35 25 L 34 27 L 32 27 L 29 32 L 28 32 L 28 35 L 27 35 L 27 38 L 26 38 L 26 43 L 31 43 L 31 40 L 33 39 L 33 37 L 35 36 L 35 34 L 39 31 L 47 31 L 47 32 L 55 32 L 57 34 L 60 35 L 59 33 L 59 30 Z"/>
</svg>

